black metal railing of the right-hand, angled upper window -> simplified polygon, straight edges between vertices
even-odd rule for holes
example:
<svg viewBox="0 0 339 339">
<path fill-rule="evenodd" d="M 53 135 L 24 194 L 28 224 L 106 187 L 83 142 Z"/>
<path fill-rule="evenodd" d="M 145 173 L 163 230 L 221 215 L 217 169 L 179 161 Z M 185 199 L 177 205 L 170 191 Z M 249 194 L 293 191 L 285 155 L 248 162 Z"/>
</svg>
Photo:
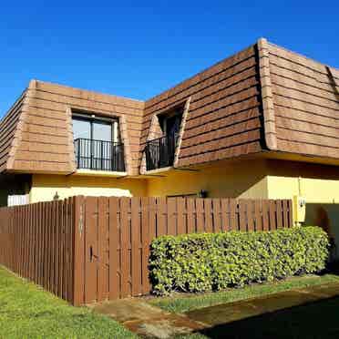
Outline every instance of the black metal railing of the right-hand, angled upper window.
<svg viewBox="0 0 339 339">
<path fill-rule="evenodd" d="M 146 168 L 157 170 L 173 165 L 178 134 L 153 139 L 146 144 Z"/>
</svg>

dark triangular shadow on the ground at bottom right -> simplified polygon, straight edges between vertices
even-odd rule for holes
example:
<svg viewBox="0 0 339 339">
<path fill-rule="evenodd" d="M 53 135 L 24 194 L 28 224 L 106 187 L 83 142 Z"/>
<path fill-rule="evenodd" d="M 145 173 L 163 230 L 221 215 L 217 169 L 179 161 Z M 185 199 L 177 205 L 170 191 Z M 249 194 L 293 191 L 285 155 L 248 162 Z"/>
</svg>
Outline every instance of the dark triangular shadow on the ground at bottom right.
<svg viewBox="0 0 339 339">
<path fill-rule="evenodd" d="M 210 338 L 339 338 L 339 296 L 200 331 Z"/>
</svg>

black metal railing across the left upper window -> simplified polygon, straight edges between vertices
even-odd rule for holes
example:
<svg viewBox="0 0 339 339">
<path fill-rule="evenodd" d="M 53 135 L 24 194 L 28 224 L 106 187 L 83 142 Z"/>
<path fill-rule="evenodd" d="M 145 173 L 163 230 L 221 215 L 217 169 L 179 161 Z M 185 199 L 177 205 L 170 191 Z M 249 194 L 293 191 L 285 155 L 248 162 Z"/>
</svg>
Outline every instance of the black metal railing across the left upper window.
<svg viewBox="0 0 339 339">
<path fill-rule="evenodd" d="M 74 140 L 77 169 L 125 171 L 124 145 L 92 139 Z"/>
</svg>

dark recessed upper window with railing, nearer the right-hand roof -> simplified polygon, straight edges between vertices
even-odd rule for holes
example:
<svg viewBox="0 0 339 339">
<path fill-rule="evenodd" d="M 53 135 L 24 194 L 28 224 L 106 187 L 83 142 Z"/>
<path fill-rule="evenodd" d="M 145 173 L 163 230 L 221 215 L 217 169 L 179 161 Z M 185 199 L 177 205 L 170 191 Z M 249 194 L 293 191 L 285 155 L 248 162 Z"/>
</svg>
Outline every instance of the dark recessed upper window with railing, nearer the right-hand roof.
<svg viewBox="0 0 339 339">
<path fill-rule="evenodd" d="M 182 114 L 183 107 L 180 106 L 158 116 L 162 137 L 147 142 L 145 149 L 147 170 L 173 166 Z"/>
</svg>

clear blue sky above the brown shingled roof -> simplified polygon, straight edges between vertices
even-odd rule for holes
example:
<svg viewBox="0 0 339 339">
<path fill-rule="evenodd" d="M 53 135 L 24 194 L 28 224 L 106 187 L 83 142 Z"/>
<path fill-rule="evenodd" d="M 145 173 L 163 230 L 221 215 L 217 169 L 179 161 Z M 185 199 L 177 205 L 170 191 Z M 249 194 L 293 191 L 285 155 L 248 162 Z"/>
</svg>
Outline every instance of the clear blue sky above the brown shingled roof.
<svg viewBox="0 0 339 339">
<path fill-rule="evenodd" d="M 31 78 L 145 99 L 261 36 L 339 67 L 338 14 L 337 0 L 3 1 L 0 117 Z"/>
</svg>

